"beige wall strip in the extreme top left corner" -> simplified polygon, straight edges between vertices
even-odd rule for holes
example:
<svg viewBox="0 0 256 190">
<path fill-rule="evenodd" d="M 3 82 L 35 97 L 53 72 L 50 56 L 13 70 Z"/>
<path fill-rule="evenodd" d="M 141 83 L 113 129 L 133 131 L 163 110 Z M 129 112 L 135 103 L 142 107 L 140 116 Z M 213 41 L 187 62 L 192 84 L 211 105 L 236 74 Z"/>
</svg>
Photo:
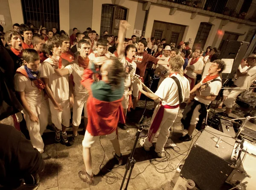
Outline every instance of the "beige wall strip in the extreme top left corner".
<svg viewBox="0 0 256 190">
<path fill-rule="evenodd" d="M 3 26 L 3 31 L 6 32 L 12 29 L 12 17 L 9 9 L 8 0 L 0 0 L 0 14 L 3 14 L 6 25 Z"/>
</svg>

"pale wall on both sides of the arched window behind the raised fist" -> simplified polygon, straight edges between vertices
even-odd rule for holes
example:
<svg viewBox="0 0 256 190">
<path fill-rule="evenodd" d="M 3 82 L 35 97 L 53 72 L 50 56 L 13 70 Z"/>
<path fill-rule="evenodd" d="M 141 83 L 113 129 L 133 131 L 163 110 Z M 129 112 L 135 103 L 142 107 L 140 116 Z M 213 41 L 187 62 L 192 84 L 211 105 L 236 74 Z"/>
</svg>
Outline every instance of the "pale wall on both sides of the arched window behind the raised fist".
<svg viewBox="0 0 256 190">
<path fill-rule="evenodd" d="M 98 34 L 100 32 L 102 4 L 112 4 L 112 1 L 93 0 L 92 29 L 98 32 Z M 120 0 L 118 5 L 128 9 L 126 20 L 131 25 L 131 29 L 126 32 L 126 37 L 131 37 L 133 35 L 138 2 L 131 0 Z"/>
</svg>

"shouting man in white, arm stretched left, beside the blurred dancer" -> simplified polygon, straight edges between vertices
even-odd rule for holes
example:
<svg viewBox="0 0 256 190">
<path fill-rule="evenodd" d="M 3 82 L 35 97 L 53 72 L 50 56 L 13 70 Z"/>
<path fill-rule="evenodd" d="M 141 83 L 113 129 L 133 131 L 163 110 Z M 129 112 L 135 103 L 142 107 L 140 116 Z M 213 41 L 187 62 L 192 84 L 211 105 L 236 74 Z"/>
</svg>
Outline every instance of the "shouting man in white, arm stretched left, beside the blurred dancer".
<svg viewBox="0 0 256 190">
<path fill-rule="evenodd" d="M 81 85 L 81 78 L 84 74 L 84 69 L 87 69 L 89 65 L 88 55 L 90 53 L 90 43 L 87 40 L 80 40 L 78 45 L 79 57 L 74 60 L 70 65 L 64 69 L 54 69 L 59 76 L 73 75 L 73 81 L 75 83 L 74 89 L 74 105 L 73 105 L 73 136 L 68 141 L 68 145 L 74 144 L 77 137 L 78 127 L 81 124 L 81 114 L 84 109 L 84 129 L 87 125 L 87 98 L 89 95 L 88 89 Z M 72 90 L 73 93 L 73 90 Z"/>
</svg>

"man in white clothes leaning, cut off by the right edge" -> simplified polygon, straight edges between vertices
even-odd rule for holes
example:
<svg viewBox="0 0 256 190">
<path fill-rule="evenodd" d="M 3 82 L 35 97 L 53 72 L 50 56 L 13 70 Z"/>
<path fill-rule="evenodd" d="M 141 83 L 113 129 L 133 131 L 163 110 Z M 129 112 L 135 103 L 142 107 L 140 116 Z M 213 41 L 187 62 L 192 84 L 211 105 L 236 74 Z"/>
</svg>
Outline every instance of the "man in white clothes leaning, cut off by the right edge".
<svg viewBox="0 0 256 190">
<path fill-rule="evenodd" d="M 247 58 L 247 64 L 250 66 L 246 71 L 240 72 L 237 70 L 236 75 L 238 79 L 234 81 L 234 85 L 240 89 L 232 89 L 231 92 L 227 95 L 227 99 L 224 101 L 226 105 L 226 114 L 228 115 L 231 112 L 231 109 L 236 101 L 236 97 L 241 93 L 247 90 L 252 83 L 256 80 L 256 55 L 250 55 Z"/>
</svg>

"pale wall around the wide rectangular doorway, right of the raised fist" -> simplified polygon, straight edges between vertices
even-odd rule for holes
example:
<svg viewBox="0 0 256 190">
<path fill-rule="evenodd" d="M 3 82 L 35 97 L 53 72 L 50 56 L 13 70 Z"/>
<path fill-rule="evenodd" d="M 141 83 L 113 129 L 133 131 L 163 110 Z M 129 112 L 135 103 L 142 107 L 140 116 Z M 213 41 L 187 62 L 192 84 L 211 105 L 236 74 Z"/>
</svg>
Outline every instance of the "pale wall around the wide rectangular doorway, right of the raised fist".
<svg viewBox="0 0 256 190">
<path fill-rule="evenodd" d="M 167 23 L 175 23 L 184 26 L 188 26 L 184 32 L 183 40 L 187 41 L 192 38 L 192 43 L 189 46 L 193 46 L 196 34 L 201 22 L 208 22 L 209 17 L 203 15 L 197 15 L 194 19 L 190 19 L 191 13 L 177 10 L 175 14 L 169 15 L 170 8 L 160 7 L 156 5 L 150 6 L 148 12 L 148 22 L 145 29 L 145 37 L 151 37 L 154 20 L 163 21 Z"/>
</svg>

